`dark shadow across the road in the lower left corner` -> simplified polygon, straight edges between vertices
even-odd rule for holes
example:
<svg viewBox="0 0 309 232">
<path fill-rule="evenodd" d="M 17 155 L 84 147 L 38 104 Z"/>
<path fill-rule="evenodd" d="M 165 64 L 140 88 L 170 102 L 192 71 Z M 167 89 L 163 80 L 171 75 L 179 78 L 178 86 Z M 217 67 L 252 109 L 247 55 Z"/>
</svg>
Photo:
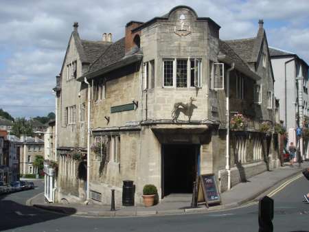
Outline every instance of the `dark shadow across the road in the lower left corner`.
<svg viewBox="0 0 309 232">
<path fill-rule="evenodd" d="M 76 213 L 76 209 L 65 207 L 67 214 L 42 211 L 35 207 L 22 205 L 13 200 L 5 199 L 8 195 L 0 196 L 0 231 L 25 227 L 28 225 L 67 217 Z M 57 207 L 61 211 L 62 207 Z"/>
</svg>

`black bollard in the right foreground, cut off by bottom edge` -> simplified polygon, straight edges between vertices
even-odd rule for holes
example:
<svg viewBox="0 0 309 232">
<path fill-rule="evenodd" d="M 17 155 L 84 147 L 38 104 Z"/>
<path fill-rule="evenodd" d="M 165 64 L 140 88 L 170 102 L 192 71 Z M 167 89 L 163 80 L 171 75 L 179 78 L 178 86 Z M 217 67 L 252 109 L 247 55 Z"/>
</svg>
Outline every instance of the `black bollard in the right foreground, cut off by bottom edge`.
<svg viewBox="0 0 309 232">
<path fill-rule="evenodd" d="M 259 232 L 273 232 L 273 199 L 268 196 L 259 201 Z"/>
</svg>

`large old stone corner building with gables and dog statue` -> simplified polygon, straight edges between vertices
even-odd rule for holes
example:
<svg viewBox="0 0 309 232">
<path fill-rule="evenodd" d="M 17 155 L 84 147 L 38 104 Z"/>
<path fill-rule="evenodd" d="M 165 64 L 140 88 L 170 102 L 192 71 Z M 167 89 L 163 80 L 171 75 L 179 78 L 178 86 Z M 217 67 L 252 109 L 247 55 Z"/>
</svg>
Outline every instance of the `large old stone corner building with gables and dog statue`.
<svg viewBox="0 0 309 232">
<path fill-rule="evenodd" d="M 263 21 L 255 38 L 224 41 L 219 30 L 182 5 L 130 21 L 115 42 L 81 40 L 74 24 L 54 89 L 59 201 L 109 203 L 115 189 L 120 205 L 124 180 L 135 202 L 149 183 L 161 199 L 209 173 L 225 192 L 279 165 Z M 227 130 L 237 114 L 246 126 Z"/>
</svg>

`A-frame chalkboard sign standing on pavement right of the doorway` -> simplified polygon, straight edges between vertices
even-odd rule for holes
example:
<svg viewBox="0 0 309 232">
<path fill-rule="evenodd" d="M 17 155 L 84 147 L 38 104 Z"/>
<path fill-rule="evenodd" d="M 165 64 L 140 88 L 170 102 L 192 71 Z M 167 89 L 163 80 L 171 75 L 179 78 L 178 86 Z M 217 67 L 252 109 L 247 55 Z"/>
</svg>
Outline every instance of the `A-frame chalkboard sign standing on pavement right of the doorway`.
<svg viewBox="0 0 309 232">
<path fill-rule="evenodd" d="M 205 174 L 198 177 L 198 202 L 209 204 L 221 204 L 220 194 L 214 174 Z"/>
</svg>

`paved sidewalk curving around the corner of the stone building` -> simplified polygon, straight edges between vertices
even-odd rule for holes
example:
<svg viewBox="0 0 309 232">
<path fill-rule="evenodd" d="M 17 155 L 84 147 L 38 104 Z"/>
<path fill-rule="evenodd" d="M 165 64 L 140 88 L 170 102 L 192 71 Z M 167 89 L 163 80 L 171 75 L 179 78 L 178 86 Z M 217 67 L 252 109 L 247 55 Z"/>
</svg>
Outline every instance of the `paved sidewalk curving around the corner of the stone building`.
<svg viewBox="0 0 309 232">
<path fill-rule="evenodd" d="M 78 216 L 96 216 L 96 217 L 115 217 L 115 216 L 154 216 L 154 215 L 176 215 L 184 213 L 206 213 L 208 211 L 218 211 L 220 209 L 230 209 L 238 207 L 245 202 L 254 200 L 258 196 L 267 192 L 268 189 L 275 187 L 275 185 L 301 173 L 304 167 L 309 167 L 309 162 L 301 163 L 301 167 L 298 167 L 298 163 L 294 167 L 288 165 L 279 167 L 271 172 L 263 172 L 257 176 L 249 178 L 246 183 L 240 183 L 235 187 L 232 187 L 229 192 L 220 194 L 222 204 L 209 207 L 205 205 L 199 205 L 198 208 L 190 208 L 191 199 L 169 201 L 162 200 L 161 204 L 153 207 L 116 207 L 116 211 L 110 211 L 111 206 L 96 205 L 89 203 L 89 205 L 78 204 L 54 204 L 45 202 L 44 195 L 38 194 L 27 201 L 27 205 L 33 205 L 41 209 L 47 209 L 56 211 L 58 213 L 65 213 L 69 215 Z"/>
</svg>

